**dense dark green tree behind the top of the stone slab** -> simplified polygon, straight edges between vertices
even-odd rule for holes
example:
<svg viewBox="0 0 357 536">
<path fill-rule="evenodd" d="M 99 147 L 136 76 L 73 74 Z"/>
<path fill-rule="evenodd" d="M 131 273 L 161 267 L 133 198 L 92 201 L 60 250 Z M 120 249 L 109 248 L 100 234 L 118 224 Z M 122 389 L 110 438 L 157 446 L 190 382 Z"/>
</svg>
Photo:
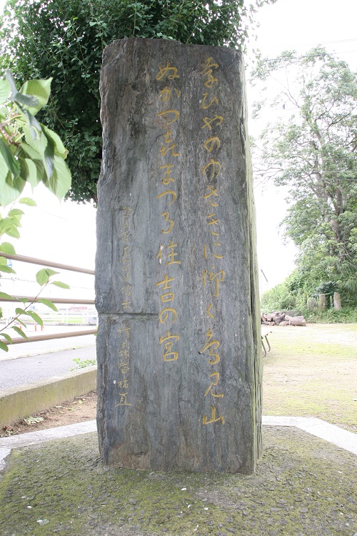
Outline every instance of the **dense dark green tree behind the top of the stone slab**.
<svg viewBox="0 0 357 536">
<path fill-rule="evenodd" d="M 257 7 L 275 0 L 254 1 L 9 0 L 1 20 L 0 67 L 11 68 L 21 82 L 53 76 L 41 120 L 69 149 L 71 199 L 96 201 L 104 47 L 137 36 L 241 48 Z"/>
</svg>

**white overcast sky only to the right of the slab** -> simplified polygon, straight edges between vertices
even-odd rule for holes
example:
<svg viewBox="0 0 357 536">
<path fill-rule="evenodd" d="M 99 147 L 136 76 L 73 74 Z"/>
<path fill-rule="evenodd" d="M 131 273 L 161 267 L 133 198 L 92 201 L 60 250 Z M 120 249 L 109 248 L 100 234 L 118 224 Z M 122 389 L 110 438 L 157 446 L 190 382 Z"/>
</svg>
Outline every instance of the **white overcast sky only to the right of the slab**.
<svg viewBox="0 0 357 536">
<path fill-rule="evenodd" d="M 347 61 L 357 69 L 357 2 L 356 0 L 278 0 L 258 12 L 260 27 L 258 39 L 252 45 L 262 55 L 271 58 L 283 50 L 299 54 L 318 44 Z M 248 61 L 249 63 L 249 61 Z M 248 86 L 248 102 L 256 98 Z M 273 118 L 269 118 L 273 119 Z M 249 131 L 258 134 L 255 121 L 250 120 Z M 261 289 L 282 282 L 293 271 L 296 249 L 284 245 L 278 224 L 286 213 L 285 194 L 273 185 L 254 189 L 257 207 L 258 261 L 268 283 L 260 272 Z"/>
</svg>

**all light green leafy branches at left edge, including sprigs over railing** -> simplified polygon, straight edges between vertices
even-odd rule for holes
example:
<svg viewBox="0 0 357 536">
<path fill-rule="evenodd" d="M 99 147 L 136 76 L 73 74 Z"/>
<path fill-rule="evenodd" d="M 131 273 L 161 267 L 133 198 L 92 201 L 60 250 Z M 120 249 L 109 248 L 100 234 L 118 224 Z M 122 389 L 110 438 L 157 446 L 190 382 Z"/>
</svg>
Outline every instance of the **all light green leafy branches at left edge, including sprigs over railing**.
<svg viewBox="0 0 357 536">
<path fill-rule="evenodd" d="M 16 89 L 14 77 L 10 71 L 6 71 L 6 79 L 0 80 L 0 205 L 12 204 L 8 214 L 0 215 L 0 237 L 8 235 L 19 238 L 21 217 L 24 212 L 14 207 L 14 202 L 19 198 L 26 182 L 31 187 L 36 187 L 39 182 L 59 199 L 64 197 L 71 185 L 71 172 L 64 160 L 66 149 L 61 139 L 49 128 L 39 123 L 36 119 L 37 112 L 45 106 L 49 100 L 51 79 L 26 81 L 20 91 Z M 28 197 L 19 199 L 19 203 L 34 206 L 36 203 Z M 14 246 L 9 242 L 0 243 L 0 274 L 15 273 L 8 266 L 6 255 L 16 254 Z M 41 269 L 36 274 L 36 280 L 41 289 L 35 300 L 48 284 L 57 287 L 69 288 L 67 284 L 53 281 L 50 278 L 59 272 L 49 268 Z M 31 310 L 34 300 L 26 298 L 15 299 L 13 296 L 0 292 L 1 299 L 10 299 L 20 302 L 22 307 L 16 308 L 16 317 L 0 329 L 0 349 L 8 351 L 8 344 L 12 339 L 6 329 L 14 331 L 28 339 L 22 329 L 15 324 L 24 324 L 24 317 L 31 318 L 34 322 L 42 325 L 39 314 Z M 39 302 L 56 311 L 56 306 L 46 298 L 38 299 Z M 0 308 L 0 319 L 2 310 Z M 6 342 L 5 342 L 6 341 Z"/>
</svg>

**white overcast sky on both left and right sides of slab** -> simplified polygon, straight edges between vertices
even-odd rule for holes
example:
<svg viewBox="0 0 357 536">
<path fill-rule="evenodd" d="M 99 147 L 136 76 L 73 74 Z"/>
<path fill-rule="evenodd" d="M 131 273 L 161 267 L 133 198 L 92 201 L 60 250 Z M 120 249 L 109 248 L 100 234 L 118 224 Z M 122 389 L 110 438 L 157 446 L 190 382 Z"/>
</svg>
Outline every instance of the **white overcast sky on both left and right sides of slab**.
<svg viewBox="0 0 357 536">
<path fill-rule="evenodd" d="M 260 28 L 254 46 L 261 49 L 263 56 L 274 57 L 286 49 L 297 49 L 303 53 L 322 44 L 328 51 L 338 52 L 338 56 L 348 61 L 352 69 L 357 67 L 356 0 L 278 0 L 273 6 L 261 9 L 258 19 Z M 248 87 L 248 101 L 251 96 Z M 249 130 L 254 130 L 252 123 Z M 291 246 L 283 246 L 282 238 L 278 235 L 277 226 L 286 210 L 283 195 L 277 194 L 273 187 L 264 192 L 256 188 L 255 194 L 258 260 L 268 279 L 267 284 L 261 275 L 262 288 L 266 289 L 282 282 L 293 270 L 296 252 Z M 36 199 L 39 207 L 26 208 L 29 216 L 24 217 L 21 240 L 14 242 L 17 252 L 93 268 L 95 209 L 88 204 L 60 204 L 44 187 L 39 187 L 30 196 Z M 66 272 L 61 279 L 71 283 L 66 279 Z M 90 286 L 78 280 L 75 285 Z M 78 292 L 82 295 L 79 289 Z"/>
</svg>

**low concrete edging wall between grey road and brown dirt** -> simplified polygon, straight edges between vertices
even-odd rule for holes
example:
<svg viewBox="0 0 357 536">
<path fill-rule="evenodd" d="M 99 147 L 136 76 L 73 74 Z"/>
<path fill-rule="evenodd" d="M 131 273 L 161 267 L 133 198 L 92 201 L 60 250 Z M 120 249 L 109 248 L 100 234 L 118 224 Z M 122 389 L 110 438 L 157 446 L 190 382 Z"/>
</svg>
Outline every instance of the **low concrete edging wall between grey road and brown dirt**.
<svg viewBox="0 0 357 536">
<path fill-rule="evenodd" d="M 0 427 L 96 389 L 96 365 L 0 391 Z"/>
</svg>

